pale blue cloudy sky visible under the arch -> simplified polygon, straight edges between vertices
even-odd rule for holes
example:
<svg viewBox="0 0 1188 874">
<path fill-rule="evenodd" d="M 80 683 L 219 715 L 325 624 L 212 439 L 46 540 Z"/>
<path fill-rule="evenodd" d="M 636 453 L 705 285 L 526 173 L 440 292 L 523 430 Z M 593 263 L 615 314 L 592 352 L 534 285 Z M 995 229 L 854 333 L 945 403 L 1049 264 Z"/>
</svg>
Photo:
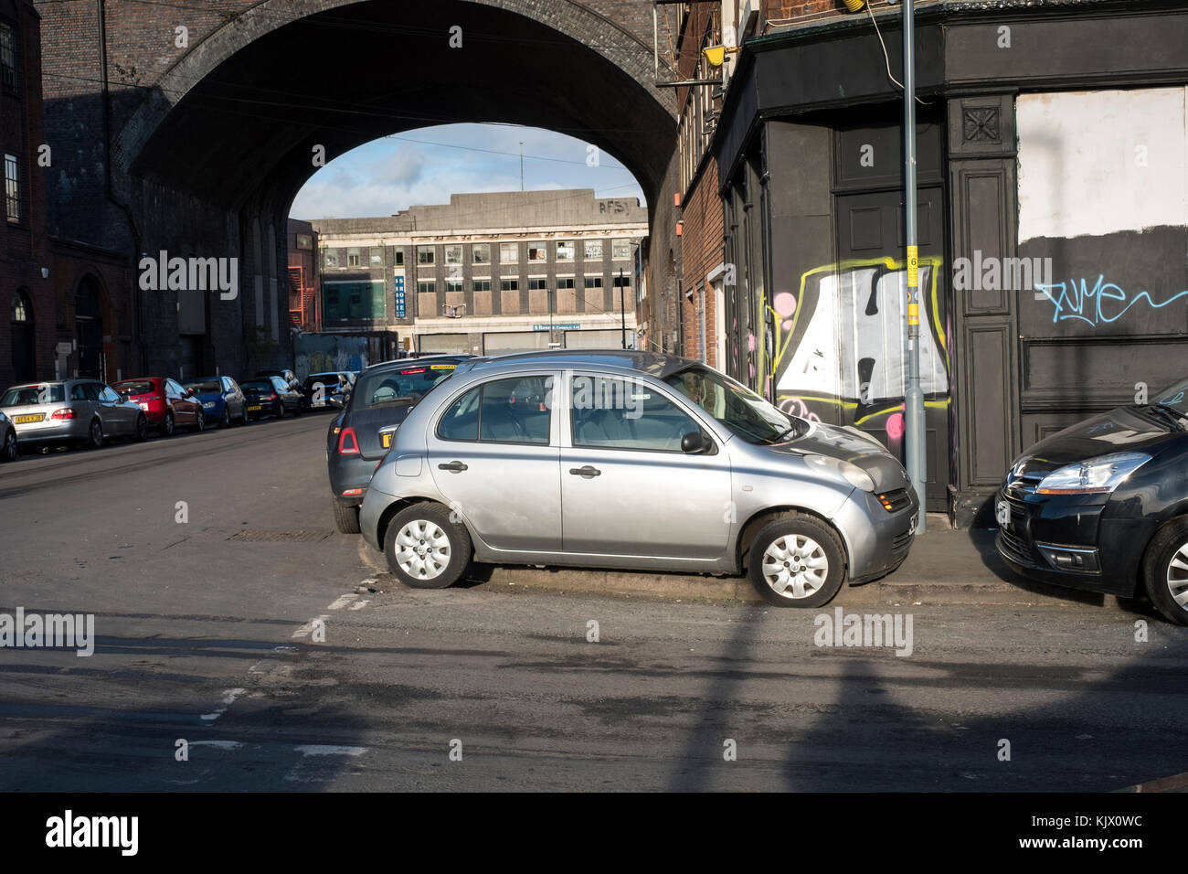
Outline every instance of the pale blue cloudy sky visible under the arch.
<svg viewBox="0 0 1188 874">
<path fill-rule="evenodd" d="M 580 139 L 516 125 L 442 125 L 377 139 L 327 163 L 293 200 L 295 219 L 392 215 L 451 194 L 524 188 L 593 188 L 596 197 L 638 197 L 631 171 Z M 595 165 L 590 166 L 594 163 Z"/>
</svg>

